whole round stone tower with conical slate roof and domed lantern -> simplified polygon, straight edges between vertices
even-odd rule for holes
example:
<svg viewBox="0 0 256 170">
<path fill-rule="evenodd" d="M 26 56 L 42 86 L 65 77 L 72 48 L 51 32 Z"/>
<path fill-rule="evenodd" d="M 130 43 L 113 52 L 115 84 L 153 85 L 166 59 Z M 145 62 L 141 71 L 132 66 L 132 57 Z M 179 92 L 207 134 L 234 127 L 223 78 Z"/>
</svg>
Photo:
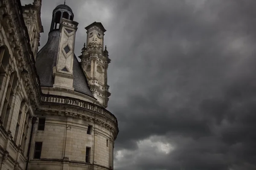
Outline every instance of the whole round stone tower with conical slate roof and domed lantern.
<svg viewBox="0 0 256 170">
<path fill-rule="evenodd" d="M 53 10 L 48 41 L 36 57 L 43 94 L 30 142 L 30 170 L 113 169 L 117 120 L 89 88 L 74 54 L 78 23 L 73 17 L 65 4 Z M 108 60 L 102 49 L 97 54 Z"/>
</svg>

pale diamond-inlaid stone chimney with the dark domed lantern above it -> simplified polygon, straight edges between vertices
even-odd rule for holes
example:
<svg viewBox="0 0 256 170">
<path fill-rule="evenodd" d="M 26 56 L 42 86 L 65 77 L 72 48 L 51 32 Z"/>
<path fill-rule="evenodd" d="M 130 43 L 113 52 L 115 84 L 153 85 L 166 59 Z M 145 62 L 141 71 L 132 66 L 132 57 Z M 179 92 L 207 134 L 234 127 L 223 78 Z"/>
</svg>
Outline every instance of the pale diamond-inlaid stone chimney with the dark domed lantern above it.
<svg viewBox="0 0 256 170">
<path fill-rule="evenodd" d="M 54 88 L 73 88 L 73 60 L 78 23 L 73 21 L 74 14 L 69 8 L 58 6 L 53 11 L 50 31 L 59 29 L 60 40 L 56 66 L 53 67 Z"/>
</svg>

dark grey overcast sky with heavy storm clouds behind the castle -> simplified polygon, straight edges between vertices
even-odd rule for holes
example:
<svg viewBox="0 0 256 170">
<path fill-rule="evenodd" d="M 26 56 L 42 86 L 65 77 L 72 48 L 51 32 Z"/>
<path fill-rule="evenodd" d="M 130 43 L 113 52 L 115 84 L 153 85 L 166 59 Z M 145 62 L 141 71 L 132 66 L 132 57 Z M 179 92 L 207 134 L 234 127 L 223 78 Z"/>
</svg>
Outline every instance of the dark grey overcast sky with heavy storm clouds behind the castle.
<svg viewBox="0 0 256 170">
<path fill-rule="evenodd" d="M 63 2 L 42 2 L 41 47 Z M 77 56 L 84 27 L 107 30 L 115 170 L 256 170 L 256 0 L 66 4 Z"/>
</svg>

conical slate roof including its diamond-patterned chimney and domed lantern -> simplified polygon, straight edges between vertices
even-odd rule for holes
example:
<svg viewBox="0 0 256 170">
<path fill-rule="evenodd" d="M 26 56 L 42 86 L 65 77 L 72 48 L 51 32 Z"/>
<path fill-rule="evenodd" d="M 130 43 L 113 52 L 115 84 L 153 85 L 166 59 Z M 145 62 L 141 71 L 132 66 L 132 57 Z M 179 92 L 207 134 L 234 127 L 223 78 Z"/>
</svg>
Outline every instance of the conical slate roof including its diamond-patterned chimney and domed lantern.
<svg viewBox="0 0 256 170">
<path fill-rule="evenodd" d="M 37 71 L 41 86 L 78 91 L 93 97 L 74 54 L 78 23 L 73 21 L 73 16 L 66 4 L 53 10 L 48 41 L 37 54 Z"/>
</svg>

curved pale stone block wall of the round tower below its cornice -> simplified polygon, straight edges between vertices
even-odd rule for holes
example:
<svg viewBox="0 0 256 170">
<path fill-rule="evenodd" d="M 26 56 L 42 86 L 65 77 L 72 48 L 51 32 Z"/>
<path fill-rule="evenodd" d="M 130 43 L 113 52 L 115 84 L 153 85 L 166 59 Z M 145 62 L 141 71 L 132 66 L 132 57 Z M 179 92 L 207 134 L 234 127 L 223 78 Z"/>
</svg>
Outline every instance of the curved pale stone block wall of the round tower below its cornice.
<svg viewBox="0 0 256 170">
<path fill-rule="evenodd" d="M 34 153 L 35 142 L 42 142 L 41 159 L 31 157 L 30 169 L 38 163 L 41 164 L 42 168 L 49 169 L 52 165 L 47 162 L 55 162 L 57 169 L 62 168 L 61 162 L 63 160 L 67 162 L 69 169 L 80 167 L 86 170 L 87 167 L 94 165 L 109 169 L 111 165 L 109 158 L 111 154 L 113 155 L 113 152 L 110 152 L 110 148 L 113 148 L 113 142 L 110 141 L 114 138 L 111 130 L 99 126 L 94 121 L 76 119 L 70 116 L 56 116 L 49 111 L 42 111 L 40 115 L 46 118 L 45 128 L 43 131 L 38 130 L 38 121 L 35 123 L 35 135 L 32 139 L 30 152 Z M 87 134 L 89 125 L 92 126 L 91 134 Z M 85 161 L 86 147 L 90 147 L 89 162 Z M 73 167 L 73 164 L 76 166 Z"/>
</svg>

